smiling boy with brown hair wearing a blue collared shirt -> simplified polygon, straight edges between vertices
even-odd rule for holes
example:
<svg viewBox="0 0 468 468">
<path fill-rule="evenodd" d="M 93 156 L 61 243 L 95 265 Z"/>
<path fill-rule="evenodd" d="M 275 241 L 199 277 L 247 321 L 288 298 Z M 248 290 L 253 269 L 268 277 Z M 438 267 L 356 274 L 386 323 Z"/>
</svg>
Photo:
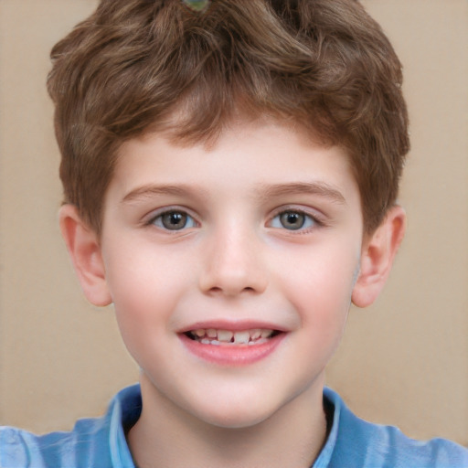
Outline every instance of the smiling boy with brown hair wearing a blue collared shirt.
<svg viewBox="0 0 468 468">
<path fill-rule="evenodd" d="M 399 61 L 359 5 L 103 1 L 53 57 L 60 225 L 141 390 L 3 430 L 1 466 L 468 465 L 324 391 L 405 226 Z"/>
</svg>

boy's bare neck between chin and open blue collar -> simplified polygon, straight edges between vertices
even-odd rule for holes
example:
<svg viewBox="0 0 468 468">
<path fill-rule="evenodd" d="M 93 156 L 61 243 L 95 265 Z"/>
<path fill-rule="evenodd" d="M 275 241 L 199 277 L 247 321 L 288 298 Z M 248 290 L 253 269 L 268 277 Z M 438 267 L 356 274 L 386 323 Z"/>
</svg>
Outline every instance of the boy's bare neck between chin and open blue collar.
<svg viewBox="0 0 468 468">
<path fill-rule="evenodd" d="M 322 384 L 322 382 L 320 382 Z M 309 468 L 326 437 L 323 385 L 306 390 L 268 420 L 221 428 L 198 420 L 142 375 L 142 415 L 128 434 L 139 468 Z"/>
</svg>

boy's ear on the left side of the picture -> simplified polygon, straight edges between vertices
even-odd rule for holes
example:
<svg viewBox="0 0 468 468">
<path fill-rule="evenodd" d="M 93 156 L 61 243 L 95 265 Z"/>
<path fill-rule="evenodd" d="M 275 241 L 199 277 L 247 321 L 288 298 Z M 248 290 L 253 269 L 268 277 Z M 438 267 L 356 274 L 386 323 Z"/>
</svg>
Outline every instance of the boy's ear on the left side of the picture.
<svg viewBox="0 0 468 468">
<path fill-rule="evenodd" d="M 63 239 L 86 298 L 94 305 L 112 303 L 97 234 L 84 223 L 78 209 L 73 205 L 60 207 L 58 218 Z"/>
</svg>

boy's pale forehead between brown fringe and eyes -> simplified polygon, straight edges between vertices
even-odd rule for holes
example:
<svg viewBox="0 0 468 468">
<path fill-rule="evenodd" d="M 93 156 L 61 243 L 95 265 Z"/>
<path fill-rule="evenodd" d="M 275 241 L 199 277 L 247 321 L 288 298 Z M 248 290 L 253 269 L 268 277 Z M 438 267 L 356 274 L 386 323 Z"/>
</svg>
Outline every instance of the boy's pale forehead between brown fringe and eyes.
<svg viewBox="0 0 468 468">
<path fill-rule="evenodd" d="M 145 133 L 122 144 L 110 189 L 133 197 L 148 186 L 190 186 L 206 197 L 227 193 L 322 190 L 336 200 L 358 197 L 346 151 L 320 144 L 303 128 L 275 121 L 232 122 L 218 138 L 188 144 Z M 301 188 L 302 187 L 302 188 Z"/>
</svg>

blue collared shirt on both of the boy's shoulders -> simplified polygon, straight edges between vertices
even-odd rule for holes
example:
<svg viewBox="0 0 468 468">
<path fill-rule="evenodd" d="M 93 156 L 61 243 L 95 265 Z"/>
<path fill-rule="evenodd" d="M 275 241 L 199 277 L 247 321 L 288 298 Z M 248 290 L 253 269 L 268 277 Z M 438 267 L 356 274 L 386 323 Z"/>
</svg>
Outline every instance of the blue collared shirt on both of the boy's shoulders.
<svg viewBox="0 0 468 468">
<path fill-rule="evenodd" d="M 330 431 L 312 468 L 468 468 L 468 450 L 443 439 L 414 441 L 397 428 L 357 418 L 324 389 Z M 142 410 L 140 387 L 124 388 L 99 419 L 37 436 L 0 428 L 0 468 L 134 468 L 124 431 Z"/>
</svg>

